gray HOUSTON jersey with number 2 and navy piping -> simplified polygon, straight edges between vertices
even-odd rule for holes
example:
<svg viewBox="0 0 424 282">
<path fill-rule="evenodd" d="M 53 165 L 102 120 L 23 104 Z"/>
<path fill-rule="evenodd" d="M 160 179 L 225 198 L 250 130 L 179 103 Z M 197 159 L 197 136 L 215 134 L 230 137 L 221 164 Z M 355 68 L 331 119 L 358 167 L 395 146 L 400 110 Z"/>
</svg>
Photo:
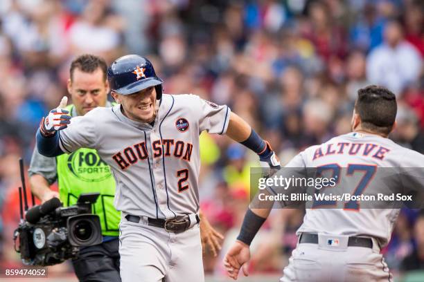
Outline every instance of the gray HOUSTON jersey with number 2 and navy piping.
<svg viewBox="0 0 424 282">
<path fill-rule="evenodd" d="M 153 125 L 125 117 L 121 105 L 97 108 L 59 131 L 60 148 L 98 151 L 112 168 L 119 211 L 174 218 L 198 211 L 199 135 L 225 133 L 229 116 L 228 106 L 197 95 L 164 94 Z"/>
</svg>

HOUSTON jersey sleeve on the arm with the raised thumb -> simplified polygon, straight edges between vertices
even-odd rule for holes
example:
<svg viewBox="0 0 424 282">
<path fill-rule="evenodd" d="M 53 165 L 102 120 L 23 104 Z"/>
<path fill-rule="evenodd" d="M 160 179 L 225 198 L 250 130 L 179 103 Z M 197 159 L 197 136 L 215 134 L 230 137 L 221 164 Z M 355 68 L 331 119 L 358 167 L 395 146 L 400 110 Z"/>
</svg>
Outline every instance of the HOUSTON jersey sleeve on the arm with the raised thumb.
<svg viewBox="0 0 424 282">
<path fill-rule="evenodd" d="M 86 115 L 71 119 L 66 129 L 58 131 L 59 146 L 65 153 L 71 153 L 80 148 L 97 149 L 98 134 L 96 122 L 98 109 L 89 111 Z"/>
</svg>

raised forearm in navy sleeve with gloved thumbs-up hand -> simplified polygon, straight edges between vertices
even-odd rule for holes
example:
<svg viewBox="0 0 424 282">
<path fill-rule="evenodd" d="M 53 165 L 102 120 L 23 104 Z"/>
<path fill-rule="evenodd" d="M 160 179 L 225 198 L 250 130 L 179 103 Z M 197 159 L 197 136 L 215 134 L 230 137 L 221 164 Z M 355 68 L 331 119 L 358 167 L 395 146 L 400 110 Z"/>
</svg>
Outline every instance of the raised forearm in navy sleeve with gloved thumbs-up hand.
<svg viewBox="0 0 424 282">
<path fill-rule="evenodd" d="M 48 113 L 39 124 L 37 131 L 37 149 L 39 153 L 46 157 L 55 157 L 64 153 L 59 147 L 59 136 L 57 131 L 66 129 L 71 123 L 69 111 L 64 110 L 67 106 L 68 98 L 63 97 L 58 108 Z"/>
</svg>

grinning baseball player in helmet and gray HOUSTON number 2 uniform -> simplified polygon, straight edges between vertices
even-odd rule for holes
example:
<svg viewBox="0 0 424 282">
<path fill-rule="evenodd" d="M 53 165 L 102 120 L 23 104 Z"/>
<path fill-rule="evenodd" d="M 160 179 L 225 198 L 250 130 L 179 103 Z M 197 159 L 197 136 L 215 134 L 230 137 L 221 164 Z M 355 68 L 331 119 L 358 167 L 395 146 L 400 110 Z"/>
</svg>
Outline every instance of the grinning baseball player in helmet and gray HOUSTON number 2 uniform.
<svg viewBox="0 0 424 282">
<path fill-rule="evenodd" d="M 258 153 L 268 173 L 280 164 L 270 144 L 249 124 L 196 95 L 162 93 L 162 80 L 145 57 L 116 59 L 107 71 L 118 105 L 69 121 L 52 110 L 40 123 L 44 156 L 96 149 L 116 180 L 121 211 L 122 281 L 204 281 L 199 232 L 199 135 L 227 134 Z"/>
</svg>

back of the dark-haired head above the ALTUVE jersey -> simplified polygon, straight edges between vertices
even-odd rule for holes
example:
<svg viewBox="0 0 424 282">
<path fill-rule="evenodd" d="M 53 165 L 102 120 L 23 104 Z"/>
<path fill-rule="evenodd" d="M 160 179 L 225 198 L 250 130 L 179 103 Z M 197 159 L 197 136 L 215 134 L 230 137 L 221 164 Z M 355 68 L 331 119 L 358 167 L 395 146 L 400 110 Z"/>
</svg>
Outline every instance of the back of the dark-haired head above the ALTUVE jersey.
<svg viewBox="0 0 424 282">
<path fill-rule="evenodd" d="M 362 129 L 389 135 L 396 120 L 396 95 L 382 86 L 366 86 L 357 91 L 355 112 Z"/>
</svg>

